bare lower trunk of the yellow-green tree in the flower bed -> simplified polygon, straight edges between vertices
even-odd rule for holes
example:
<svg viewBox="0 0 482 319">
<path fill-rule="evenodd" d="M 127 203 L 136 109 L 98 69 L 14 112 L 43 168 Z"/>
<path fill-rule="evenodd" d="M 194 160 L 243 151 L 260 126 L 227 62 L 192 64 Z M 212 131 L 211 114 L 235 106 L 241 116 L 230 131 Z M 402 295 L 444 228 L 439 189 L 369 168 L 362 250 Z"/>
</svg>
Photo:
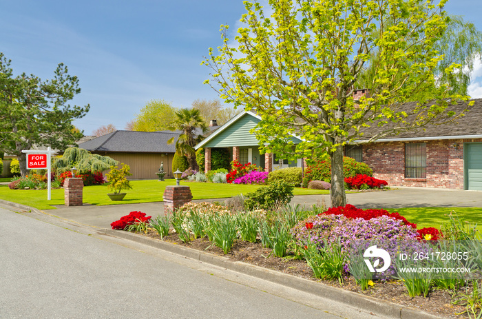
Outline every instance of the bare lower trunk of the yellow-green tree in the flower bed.
<svg viewBox="0 0 482 319">
<path fill-rule="evenodd" d="M 345 206 L 345 180 L 343 174 L 343 147 L 331 152 L 331 207 Z"/>
</svg>

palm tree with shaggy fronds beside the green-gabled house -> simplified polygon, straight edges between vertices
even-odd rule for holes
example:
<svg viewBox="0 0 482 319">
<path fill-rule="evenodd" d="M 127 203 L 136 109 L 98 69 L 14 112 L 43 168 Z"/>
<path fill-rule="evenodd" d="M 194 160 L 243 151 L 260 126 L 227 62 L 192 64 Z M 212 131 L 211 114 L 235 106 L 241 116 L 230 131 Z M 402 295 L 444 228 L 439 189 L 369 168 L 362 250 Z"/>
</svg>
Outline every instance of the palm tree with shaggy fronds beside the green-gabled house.
<svg viewBox="0 0 482 319">
<path fill-rule="evenodd" d="M 176 114 L 176 119 L 168 128 L 171 131 L 182 131 L 176 142 L 176 154 L 178 156 L 186 156 L 189 167 L 198 170 L 194 146 L 204 138 L 202 134 L 208 131 L 207 124 L 202 119 L 200 111 L 196 109 L 181 109 L 174 112 L 174 114 Z M 170 138 L 167 143 L 174 143 L 174 137 Z"/>
</svg>

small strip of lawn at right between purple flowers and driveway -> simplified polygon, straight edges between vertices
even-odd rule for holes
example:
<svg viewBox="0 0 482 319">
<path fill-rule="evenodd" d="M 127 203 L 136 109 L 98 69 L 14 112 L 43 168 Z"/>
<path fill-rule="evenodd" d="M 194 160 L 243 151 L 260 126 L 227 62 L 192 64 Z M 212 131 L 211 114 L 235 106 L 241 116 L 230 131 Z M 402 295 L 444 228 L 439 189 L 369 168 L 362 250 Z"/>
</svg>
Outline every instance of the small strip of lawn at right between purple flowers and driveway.
<svg viewBox="0 0 482 319">
<path fill-rule="evenodd" d="M 454 211 L 459 219 L 470 225 L 477 224 L 476 229 L 482 234 L 482 207 L 410 207 L 387 209 L 388 212 L 398 212 L 410 223 L 416 223 L 417 228 L 435 227 L 449 222 L 448 214 Z"/>
</svg>

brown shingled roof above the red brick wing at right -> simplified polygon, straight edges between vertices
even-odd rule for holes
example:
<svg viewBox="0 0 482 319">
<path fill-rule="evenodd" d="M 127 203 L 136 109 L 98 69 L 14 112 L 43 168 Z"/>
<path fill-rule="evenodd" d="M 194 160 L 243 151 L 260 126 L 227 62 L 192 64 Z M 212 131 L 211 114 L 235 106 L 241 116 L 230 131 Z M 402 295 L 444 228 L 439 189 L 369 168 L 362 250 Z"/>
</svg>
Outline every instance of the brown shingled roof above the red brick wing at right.
<svg viewBox="0 0 482 319">
<path fill-rule="evenodd" d="M 409 130 L 400 132 L 399 134 L 386 136 L 375 142 L 482 138 L 482 99 L 474 99 L 472 101 L 474 102 L 474 105 L 472 106 L 468 106 L 468 103 L 466 102 L 448 105 L 447 111 L 454 111 L 455 114 L 464 114 L 455 121 L 446 124 L 437 124 L 437 122 L 443 122 L 445 118 L 436 118 L 434 124 L 426 125 L 425 127 L 416 130 Z M 404 103 L 399 110 L 410 112 L 416 107 L 416 105 L 417 103 L 415 102 Z M 410 116 L 407 121 L 412 121 Z M 387 123 L 384 127 L 377 127 L 377 125 L 372 124 L 371 127 L 364 127 L 363 130 L 360 130 L 360 132 L 364 132 L 364 136 L 356 142 L 368 141 L 371 136 L 379 134 L 382 129 L 386 129 L 389 125 L 390 123 Z"/>
</svg>

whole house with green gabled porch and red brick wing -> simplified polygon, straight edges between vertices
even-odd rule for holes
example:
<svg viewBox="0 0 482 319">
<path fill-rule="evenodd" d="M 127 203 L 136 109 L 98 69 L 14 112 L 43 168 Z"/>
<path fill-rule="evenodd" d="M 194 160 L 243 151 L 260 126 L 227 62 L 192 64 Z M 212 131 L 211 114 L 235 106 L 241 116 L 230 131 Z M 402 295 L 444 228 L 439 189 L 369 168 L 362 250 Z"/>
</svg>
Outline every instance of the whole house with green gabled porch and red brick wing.
<svg viewBox="0 0 482 319">
<path fill-rule="evenodd" d="M 367 92 L 355 92 L 359 93 Z M 482 190 L 482 99 L 472 101 L 472 106 L 468 103 L 449 106 L 456 114 L 465 114 L 456 121 L 427 125 L 367 143 L 370 136 L 381 130 L 372 125 L 355 145 L 346 146 L 345 154 L 366 163 L 376 178 L 391 186 Z M 415 104 L 406 103 L 403 107 L 412 110 Z M 258 140 L 250 133 L 260 121 L 255 113 L 242 112 L 196 145 L 196 150 L 205 147 L 206 171 L 210 169 L 213 147 L 228 147 L 232 159 L 255 163 L 266 172 L 277 167 L 304 166 L 301 159 L 296 163 L 282 161 L 279 165 L 276 156 L 260 154 Z M 300 143 L 296 136 L 292 140 Z"/>
</svg>

